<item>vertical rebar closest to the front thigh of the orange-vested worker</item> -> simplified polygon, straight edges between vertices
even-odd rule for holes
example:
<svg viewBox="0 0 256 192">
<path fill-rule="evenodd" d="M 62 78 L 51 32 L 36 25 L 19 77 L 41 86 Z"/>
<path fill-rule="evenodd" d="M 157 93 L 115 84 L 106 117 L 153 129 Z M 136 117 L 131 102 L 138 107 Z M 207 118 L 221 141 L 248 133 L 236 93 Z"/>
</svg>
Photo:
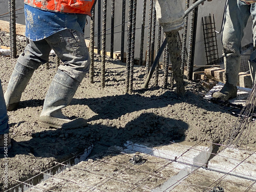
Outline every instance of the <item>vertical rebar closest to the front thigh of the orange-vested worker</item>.
<svg viewBox="0 0 256 192">
<path fill-rule="evenodd" d="M 94 19 L 95 19 L 95 8 L 92 8 L 92 16 L 91 16 L 91 33 L 90 33 L 90 57 L 91 57 L 91 65 L 89 70 L 89 78 L 90 83 L 94 83 Z"/>
</svg>

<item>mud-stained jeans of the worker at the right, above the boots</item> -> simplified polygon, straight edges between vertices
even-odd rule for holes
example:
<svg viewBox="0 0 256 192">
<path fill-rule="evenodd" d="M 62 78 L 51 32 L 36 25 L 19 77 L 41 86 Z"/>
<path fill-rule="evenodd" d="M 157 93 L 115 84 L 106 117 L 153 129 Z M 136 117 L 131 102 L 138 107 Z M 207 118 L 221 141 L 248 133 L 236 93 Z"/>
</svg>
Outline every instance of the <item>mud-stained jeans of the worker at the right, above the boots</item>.
<svg viewBox="0 0 256 192">
<path fill-rule="evenodd" d="M 253 46 L 256 44 L 256 4 L 247 5 L 240 0 L 228 0 L 222 32 L 223 56 L 240 57 L 241 40 L 249 16 L 252 16 Z"/>
</svg>

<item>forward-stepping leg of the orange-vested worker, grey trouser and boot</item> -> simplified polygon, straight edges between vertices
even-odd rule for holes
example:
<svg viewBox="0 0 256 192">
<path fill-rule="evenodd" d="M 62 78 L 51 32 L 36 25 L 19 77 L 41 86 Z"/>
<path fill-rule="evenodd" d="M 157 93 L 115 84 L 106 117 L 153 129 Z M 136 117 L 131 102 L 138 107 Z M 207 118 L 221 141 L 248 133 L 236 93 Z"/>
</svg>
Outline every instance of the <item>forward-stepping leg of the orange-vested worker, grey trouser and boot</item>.
<svg viewBox="0 0 256 192">
<path fill-rule="evenodd" d="M 69 120 L 61 113 L 61 109 L 69 105 L 75 92 L 88 73 L 90 57 L 82 33 L 75 30 L 63 30 L 46 39 L 62 60 L 49 90 L 39 123 L 44 127 L 75 128 L 86 125 L 86 120 Z"/>
</svg>

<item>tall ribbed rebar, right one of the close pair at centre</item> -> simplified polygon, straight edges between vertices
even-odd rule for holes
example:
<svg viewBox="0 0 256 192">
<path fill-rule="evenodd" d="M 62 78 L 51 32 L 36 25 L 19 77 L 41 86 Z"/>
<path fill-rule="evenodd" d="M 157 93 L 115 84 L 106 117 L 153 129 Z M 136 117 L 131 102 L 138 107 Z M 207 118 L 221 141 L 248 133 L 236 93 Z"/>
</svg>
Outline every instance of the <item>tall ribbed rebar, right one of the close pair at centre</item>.
<svg viewBox="0 0 256 192">
<path fill-rule="evenodd" d="M 137 10 L 137 0 L 133 0 L 133 22 L 132 22 L 132 45 L 131 45 L 129 93 L 133 92 L 133 69 L 134 69 L 134 53 L 135 53 L 136 10 Z"/>
</svg>

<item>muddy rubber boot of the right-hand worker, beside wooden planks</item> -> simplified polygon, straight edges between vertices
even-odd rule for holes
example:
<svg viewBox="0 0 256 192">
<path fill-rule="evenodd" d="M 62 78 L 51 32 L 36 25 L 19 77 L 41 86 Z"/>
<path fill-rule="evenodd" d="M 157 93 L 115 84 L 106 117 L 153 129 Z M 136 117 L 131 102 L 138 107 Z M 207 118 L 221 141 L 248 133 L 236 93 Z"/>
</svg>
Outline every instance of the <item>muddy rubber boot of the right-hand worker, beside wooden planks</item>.
<svg viewBox="0 0 256 192">
<path fill-rule="evenodd" d="M 237 82 L 240 70 L 241 57 L 224 57 L 226 83 L 219 92 L 214 92 L 212 97 L 227 101 L 237 97 Z"/>
</svg>

